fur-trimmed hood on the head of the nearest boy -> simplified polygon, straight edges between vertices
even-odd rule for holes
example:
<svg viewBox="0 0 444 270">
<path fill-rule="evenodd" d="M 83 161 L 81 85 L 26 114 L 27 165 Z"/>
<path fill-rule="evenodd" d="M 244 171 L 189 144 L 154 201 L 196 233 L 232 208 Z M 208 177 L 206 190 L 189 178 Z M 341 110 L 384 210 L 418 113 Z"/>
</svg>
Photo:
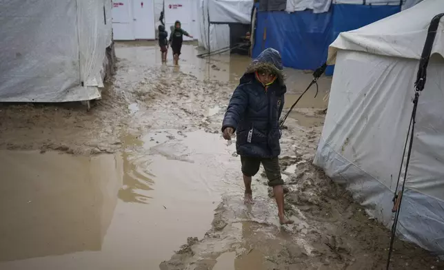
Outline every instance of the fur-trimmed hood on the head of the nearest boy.
<svg viewBox="0 0 444 270">
<path fill-rule="evenodd" d="M 281 54 L 273 48 L 267 48 L 248 65 L 245 75 L 254 74 L 258 70 L 266 70 L 276 74 L 281 85 L 284 85 L 283 65 Z M 242 81 L 242 79 L 241 79 Z"/>
</svg>

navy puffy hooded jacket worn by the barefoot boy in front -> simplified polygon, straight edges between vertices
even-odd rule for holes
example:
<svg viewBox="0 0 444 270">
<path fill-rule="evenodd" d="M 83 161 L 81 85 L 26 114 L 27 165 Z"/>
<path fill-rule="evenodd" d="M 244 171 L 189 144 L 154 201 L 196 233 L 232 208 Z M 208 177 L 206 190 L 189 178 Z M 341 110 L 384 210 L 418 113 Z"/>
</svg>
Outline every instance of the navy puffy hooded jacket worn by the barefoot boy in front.
<svg viewBox="0 0 444 270">
<path fill-rule="evenodd" d="M 265 91 L 256 80 L 256 70 L 268 70 L 278 79 Z M 282 74 L 281 54 L 268 48 L 252 61 L 230 99 L 222 124 L 236 130 L 236 150 L 241 156 L 274 158 L 281 154 L 279 118 L 287 91 Z M 250 134 L 250 136 L 249 136 Z"/>
</svg>

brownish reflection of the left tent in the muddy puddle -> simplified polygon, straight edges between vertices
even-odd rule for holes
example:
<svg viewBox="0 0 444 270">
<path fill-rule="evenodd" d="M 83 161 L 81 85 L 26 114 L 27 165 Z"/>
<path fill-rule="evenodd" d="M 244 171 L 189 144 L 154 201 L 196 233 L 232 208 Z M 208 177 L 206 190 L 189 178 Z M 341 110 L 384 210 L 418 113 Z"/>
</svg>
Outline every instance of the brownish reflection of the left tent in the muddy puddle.
<svg viewBox="0 0 444 270">
<path fill-rule="evenodd" d="M 117 205 L 118 156 L 0 152 L 0 261 L 99 251 Z"/>
</svg>

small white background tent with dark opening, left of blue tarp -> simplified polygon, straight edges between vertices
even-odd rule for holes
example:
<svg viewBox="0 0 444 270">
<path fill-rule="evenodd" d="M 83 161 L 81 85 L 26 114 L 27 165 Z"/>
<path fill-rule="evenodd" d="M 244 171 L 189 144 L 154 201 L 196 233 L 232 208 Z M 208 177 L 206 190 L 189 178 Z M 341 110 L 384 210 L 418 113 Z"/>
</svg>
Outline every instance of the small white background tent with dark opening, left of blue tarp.
<svg viewBox="0 0 444 270">
<path fill-rule="evenodd" d="M 212 51 L 229 47 L 230 24 L 250 25 L 252 8 L 252 0 L 199 0 L 199 45 Z"/>
</svg>

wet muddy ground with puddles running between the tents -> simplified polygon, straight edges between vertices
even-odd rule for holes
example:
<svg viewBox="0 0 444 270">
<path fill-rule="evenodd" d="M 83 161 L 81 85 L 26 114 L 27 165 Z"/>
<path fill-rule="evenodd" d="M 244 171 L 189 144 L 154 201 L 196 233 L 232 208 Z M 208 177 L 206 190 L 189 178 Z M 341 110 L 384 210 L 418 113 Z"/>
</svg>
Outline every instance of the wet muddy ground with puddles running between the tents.
<svg viewBox="0 0 444 270">
<path fill-rule="evenodd" d="M 194 47 L 173 67 L 152 43 L 118 43 L 117 74 L 90 112 L 0 106 L 0 269 L 385 269 L 389 231 L 312 165 L 331 80 L 283 131 L 295 224 L 280 226 L 263 173 L 243 204 L 239 157 L 219 130 L 249 59 L 197 59 Z M 288 108 L 311 75 L 286 72 Z M 444 263 L 398 240 L 392 269 Z"/>
</svg>

